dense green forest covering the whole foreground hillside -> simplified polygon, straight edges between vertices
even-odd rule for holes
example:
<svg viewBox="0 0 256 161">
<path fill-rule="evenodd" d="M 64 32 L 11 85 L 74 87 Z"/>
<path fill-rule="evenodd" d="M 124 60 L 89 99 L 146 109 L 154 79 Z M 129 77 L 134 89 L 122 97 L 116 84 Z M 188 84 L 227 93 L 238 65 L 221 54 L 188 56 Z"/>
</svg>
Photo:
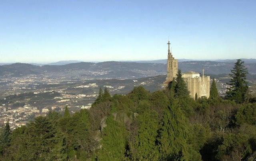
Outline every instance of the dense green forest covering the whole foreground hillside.
<svg viewBox="0 0 256 161">
<path fill-rule="evenodd" d="M 178 71 L 168 89 L 136 86 L 126 95 L 99 90 L 89 110 L 49 112 L 28 126 L 1 131 L 0 160 L 253 161 L 256 98 L 238 59 L 227 96 L 213 79 L 210 98 L 189 96 Z"/>
</svg>

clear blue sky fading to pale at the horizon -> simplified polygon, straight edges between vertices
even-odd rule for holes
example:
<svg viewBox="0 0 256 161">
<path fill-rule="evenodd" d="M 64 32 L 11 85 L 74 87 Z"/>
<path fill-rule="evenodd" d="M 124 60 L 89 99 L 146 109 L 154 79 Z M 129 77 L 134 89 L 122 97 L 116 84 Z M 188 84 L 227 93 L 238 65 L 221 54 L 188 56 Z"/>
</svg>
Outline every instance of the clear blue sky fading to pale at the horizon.
<svg viewBox="0 0 256 161">
<path fill-rule="evenodd" d="M 0 0 L 0 63 L 256 59 L 256 0 Z"/>
</svg>

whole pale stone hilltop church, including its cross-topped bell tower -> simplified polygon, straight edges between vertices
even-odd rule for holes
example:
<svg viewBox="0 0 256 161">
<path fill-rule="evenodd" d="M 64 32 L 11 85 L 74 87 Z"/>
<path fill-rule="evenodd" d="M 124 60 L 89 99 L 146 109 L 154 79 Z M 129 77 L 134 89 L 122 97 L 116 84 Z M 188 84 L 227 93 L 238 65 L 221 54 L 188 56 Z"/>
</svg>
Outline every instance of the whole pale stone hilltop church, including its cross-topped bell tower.
<svg viewBox="0 0 256 161">
<path fill-rule="evenodd" d="M 164 82 L 164 87 L 167 88 L 169 83 L 176 78 L 178 73 L 178 60 L 174 59 L 172 52 L 170 52 L 170 41 L 168 41 L 168 58 L 167 58 L 167 77 Z M 200 73 L 189 71 L 182 73 L 182 77 L 187 84 L 190 96 L 196 98 L 210 97 L 210 76 L 204 76 L 204 69 L 202 70 L 202 77 Z"/>
</svg>

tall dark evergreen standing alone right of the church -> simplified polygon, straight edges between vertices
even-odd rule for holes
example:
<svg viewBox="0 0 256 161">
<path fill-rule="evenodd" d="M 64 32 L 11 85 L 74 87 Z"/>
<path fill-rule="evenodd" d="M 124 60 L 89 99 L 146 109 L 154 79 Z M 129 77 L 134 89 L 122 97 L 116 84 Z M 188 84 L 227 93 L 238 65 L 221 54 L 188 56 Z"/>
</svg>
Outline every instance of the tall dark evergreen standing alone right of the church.
<svg viewBox="0 0 256 161">
<path fill-rule="evenodd" d="M 243 64 L 244 61 L 237 59 L 237 62 L 231 70 L 231 74 L 229 74 L 232 78 L 229 83 L 230 88 L 228 88 L 228 91 L 226 92 L 226 98 L 233 100 L 236 103 L 243 103 L 248 92 L 248 85 L 246 82 L 246 74 L 248 73 L 248 70 Z"/>
</svg>

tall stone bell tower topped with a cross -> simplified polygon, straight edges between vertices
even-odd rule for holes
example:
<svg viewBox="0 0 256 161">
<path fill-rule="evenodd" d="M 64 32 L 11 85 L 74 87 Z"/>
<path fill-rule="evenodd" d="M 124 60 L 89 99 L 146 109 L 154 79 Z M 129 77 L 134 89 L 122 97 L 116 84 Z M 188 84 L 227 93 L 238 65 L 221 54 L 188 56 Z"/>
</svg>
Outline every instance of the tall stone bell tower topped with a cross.
<svg viewBox="0 0 256 161">
<path fill-rule="evenodd" d="M 170 51 L 170 41 L 168 41 L 168 58 L 167 58 L 167 77 L 164 82 L 164 86 L 171 82 L 173 78 L 176 78 L 176 74 L 178 73 L 178 60 L 172 57 L 172 51 Z M 168 85 L 167 85 L 168 86 Z"/>
</svg>

